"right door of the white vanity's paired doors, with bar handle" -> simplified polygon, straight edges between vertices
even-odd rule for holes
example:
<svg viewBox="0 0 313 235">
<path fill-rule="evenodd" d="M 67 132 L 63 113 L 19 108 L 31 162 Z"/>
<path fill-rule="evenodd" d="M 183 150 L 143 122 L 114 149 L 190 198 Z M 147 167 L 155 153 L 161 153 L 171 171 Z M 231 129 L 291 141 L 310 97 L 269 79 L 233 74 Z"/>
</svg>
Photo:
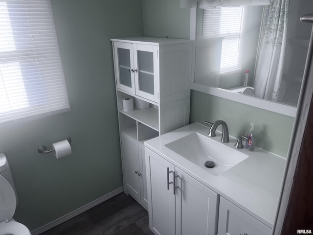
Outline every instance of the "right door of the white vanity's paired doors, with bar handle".
<svg viewBox="0 0 313 235">
<path fill-rule="evenodd" d="M 219 195 L 175 167 L 176 235 L 216 235 Z"/>
</svg>

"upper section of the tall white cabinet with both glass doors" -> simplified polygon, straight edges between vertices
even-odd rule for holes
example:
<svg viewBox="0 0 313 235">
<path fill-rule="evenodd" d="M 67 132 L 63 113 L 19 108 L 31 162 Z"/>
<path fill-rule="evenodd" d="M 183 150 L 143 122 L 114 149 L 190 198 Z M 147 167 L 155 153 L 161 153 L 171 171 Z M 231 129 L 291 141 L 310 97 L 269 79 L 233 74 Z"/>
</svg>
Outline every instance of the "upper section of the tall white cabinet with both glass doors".
<svg viewBox="0 0 313 235">
<path fill-rule="evenodd" d="M 116 89 L 153 104 L 190 96 L 192 40 L 111 39 Z"/>
</svg>

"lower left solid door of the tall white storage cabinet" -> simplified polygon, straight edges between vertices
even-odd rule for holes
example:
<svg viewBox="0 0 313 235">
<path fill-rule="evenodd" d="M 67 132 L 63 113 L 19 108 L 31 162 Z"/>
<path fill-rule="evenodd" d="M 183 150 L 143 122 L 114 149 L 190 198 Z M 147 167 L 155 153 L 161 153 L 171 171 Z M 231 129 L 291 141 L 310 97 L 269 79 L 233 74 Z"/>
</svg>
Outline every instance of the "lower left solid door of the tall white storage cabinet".
<svg viewBox="0 0 313 235">
<path fill-rule="evenodd" d="M 124 170 L 124 190 L 140 200 L 138 142 L 121 133 L 121 154 Z"/>
</svg>

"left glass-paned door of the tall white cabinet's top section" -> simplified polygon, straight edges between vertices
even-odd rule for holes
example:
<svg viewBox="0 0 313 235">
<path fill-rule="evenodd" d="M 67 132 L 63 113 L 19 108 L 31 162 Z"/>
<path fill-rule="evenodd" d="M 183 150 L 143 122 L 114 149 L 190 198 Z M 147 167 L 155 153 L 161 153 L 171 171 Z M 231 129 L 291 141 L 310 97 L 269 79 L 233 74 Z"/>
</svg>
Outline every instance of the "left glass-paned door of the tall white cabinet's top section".
<svg viewBox="0 0 313 235">
<path fill-rule="evenodd" d="M 114 42 L 116 87 L 134 94 L 133 44 Z"/>
</svg>

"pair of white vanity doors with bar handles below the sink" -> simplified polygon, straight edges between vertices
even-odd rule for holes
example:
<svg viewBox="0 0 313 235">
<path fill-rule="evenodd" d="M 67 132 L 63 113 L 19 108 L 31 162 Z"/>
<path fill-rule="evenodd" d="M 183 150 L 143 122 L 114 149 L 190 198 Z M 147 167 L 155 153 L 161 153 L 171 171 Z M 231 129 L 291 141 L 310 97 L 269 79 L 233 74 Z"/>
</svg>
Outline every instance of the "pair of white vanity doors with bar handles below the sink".
<svg viewBox="0 0 313 235">
<path fill-rule="evenodd" d="M 149 227 L 156 235 L 216 235 L 219 195 L 145 148 Z"/>
</svg>

